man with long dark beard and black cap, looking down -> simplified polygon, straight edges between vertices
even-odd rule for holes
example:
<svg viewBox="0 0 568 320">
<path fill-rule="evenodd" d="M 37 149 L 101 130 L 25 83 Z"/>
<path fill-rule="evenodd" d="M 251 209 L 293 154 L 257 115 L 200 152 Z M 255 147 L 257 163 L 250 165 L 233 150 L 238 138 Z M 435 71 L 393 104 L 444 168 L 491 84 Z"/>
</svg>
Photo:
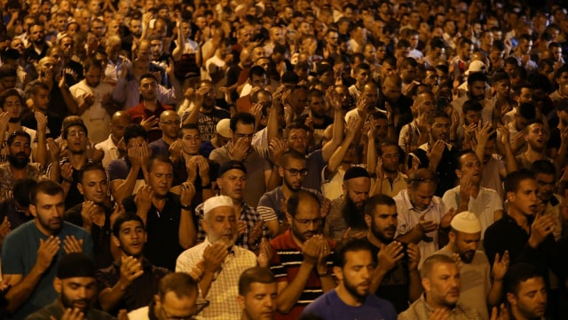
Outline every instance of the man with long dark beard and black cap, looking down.
<svg viewBox="0 0 568 320">
<path fill-rule="evenodd" d="M 323 234 L 341 241 L 345 230 L 365 233 L 365 203 L 369 197 L 371 178 L 366 169 L 354 166 L 343 176 L 343 196 L 331 202 Z"/>
</svg>

